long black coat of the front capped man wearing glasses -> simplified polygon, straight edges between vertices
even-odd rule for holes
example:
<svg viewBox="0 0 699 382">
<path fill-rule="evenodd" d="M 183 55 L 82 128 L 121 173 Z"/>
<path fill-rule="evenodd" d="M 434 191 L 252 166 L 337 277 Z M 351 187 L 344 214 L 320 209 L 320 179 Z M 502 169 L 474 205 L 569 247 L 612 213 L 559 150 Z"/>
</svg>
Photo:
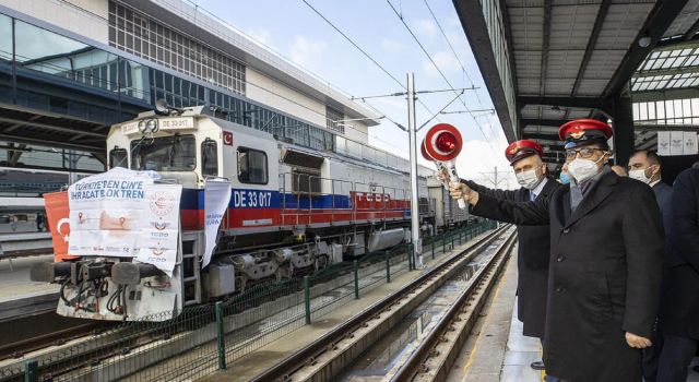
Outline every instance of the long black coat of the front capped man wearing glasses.
<svg viewBox="0 0 699 382">
<path fill-rule="evenodd" d="M 548 374 L 570 382 L 641 381 L 641 351 L 627 345 L 625 332 L 650 338 L 657 314 L 663 226 L 648 186 L 608 172 L 574 212 L 567 184 L 534 203 L 482 195 L 473 214 L 550 224 Z"/>
</svg>

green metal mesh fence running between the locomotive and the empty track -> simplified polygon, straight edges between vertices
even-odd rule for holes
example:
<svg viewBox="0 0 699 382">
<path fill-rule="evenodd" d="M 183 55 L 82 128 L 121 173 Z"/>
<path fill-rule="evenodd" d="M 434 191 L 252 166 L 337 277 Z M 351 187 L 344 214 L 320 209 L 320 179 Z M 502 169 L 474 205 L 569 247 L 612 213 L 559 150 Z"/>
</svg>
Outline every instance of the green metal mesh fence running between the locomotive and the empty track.
<svg viewBox="0 0 699 382">
<path fill-rule="evenodd" d="M 496 226 L 495 222 L 479 222 L 424 239 L 425 264 L 429 266 L 433 260 Z M 360 298 L 414 265 L 413 247 L 402 244 L 305 277 L 260 283 L 227 301 L 187 308 L 173 320 L 125 322 L 95 333 L 60 351 L 0 369 L 0 380 L 201 378 Z M 171 317 L 173 312 L 161 314 Z"/>
</svg>

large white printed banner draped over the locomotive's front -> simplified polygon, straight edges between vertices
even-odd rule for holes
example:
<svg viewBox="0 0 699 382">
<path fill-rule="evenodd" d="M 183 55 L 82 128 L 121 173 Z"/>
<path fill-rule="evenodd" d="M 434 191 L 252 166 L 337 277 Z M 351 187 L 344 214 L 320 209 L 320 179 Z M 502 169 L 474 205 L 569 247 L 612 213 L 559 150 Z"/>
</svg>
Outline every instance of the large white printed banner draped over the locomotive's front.
<svg viewBox="0 0 699 382">
<path fill-rule="evenodd" d="M 135 258 L 171 275 L 177 262 L 181 186 L 152 171 L 114 168 L 68 189 L 69 252 Z"/>
</svg>

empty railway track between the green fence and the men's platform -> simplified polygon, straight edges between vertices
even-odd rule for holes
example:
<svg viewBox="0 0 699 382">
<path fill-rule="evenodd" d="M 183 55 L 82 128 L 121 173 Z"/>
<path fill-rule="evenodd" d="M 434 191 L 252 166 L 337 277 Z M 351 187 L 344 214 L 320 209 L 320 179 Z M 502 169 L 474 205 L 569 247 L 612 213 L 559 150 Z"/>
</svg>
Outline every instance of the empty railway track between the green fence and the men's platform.
<svg viewBox="0 0 699 382">
<path fill-rule="evenodd" d="M 481 255 L 484 263 L 469 277 L 453 303 L 428 326 L 429 332 L 413 344 L 412 349 L 401 344 L 405 346 L 404 351 L 399 351 L 403 358 L 382 378 L 392 381 L 445 380 L 514 241 L 512 227 L 500 228 L 260 373 L 253 381 L 327 381 L 346 373 L 359 356 L 380 343 L 404 318 L 419 309 L 445 283 L 463 274 L 464 268 Z M 490 253 L 483 255 L 488 248 Z M 406 353 L 410 356 L 405 357 Z"/>
</svg>

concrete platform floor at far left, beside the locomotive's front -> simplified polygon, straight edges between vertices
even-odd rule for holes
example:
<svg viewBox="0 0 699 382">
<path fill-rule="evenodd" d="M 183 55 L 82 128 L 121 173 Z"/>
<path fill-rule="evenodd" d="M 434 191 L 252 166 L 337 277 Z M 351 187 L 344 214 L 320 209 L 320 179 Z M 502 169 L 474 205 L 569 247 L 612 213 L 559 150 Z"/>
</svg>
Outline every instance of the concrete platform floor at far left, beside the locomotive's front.
<svg viewBox="0 0 699 382">
<path fill-rule="evenodd" d="M 32 264 L 54 261 L 52 254 L 12 259 L 12 268 L 8 259 L 0 260 L 0 303 L 57 293 L 57 284 L 34 283 L 29 280 Z"/>
</svg>

